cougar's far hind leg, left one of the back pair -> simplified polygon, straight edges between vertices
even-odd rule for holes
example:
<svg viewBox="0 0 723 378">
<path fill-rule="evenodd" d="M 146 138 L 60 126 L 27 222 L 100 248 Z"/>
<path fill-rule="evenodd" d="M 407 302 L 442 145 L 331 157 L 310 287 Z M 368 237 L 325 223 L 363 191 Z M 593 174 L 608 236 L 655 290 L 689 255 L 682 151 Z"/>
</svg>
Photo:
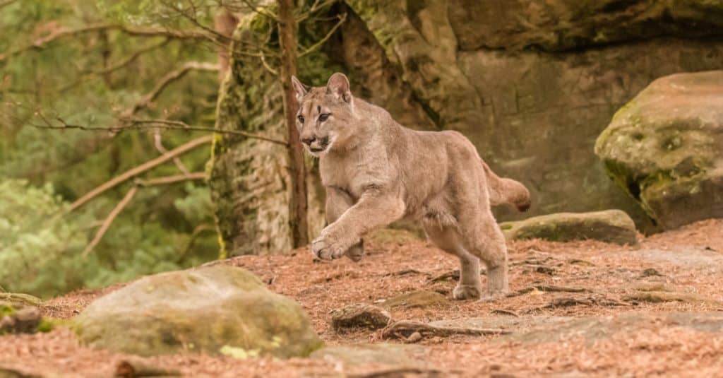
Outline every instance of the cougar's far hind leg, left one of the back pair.
<svg viewBox="0 0 723 378">
<path fill-rule="evenodd" d="M 482 282 L 479 280 L 479 259 L 465 251 L 460 235 L 454 227 L 438 227 L 425 224 L 424 232 L 437 247 L 459 258 L 460 277 L 452 292 L 455 299 L 473 299 L 482 295 Z"/>
</svg>

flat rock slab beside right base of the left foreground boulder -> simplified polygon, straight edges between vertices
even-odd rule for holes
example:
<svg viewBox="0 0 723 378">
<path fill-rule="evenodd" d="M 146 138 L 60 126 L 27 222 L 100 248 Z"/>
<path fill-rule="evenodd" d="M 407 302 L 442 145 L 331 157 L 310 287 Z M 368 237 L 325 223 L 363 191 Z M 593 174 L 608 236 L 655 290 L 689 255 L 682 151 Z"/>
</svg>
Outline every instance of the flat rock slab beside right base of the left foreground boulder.
<svg viewBox="0 0 723 378">
<path fill-rule="evenodd" d="M 311 357 L 348 365 L 420 366 L 424 364 L 424 353 L 425 348 L 421 345 L 379 343 L 326 347 L 315 351 Z"/>
</svg>

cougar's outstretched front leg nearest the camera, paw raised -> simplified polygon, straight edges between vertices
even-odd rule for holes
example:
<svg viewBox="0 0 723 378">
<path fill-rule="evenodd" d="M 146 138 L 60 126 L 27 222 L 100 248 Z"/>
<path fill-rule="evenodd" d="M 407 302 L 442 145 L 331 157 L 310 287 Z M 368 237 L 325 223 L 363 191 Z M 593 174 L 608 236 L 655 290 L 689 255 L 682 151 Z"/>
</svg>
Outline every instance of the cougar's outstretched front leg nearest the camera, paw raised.
<svg viewBox="0 0 723 378">
<path fill-rule="evenodd" d="M 319 259 L 338 259 L 361 237 L 378 227 L 384 227 L 404 215 L 404 202 L 395 193 L 367 190 L 359 201 L 322 230 L 312 242 L 312 253 Z"/>
</svg>

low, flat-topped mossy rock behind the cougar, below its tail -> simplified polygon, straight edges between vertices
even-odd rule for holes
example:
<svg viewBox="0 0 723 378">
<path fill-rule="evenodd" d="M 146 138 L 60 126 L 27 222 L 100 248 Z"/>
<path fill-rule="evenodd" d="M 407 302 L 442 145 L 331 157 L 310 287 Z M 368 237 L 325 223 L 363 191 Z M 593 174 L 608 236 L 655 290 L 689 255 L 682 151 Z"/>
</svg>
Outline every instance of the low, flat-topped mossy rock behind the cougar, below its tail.
<svg viewBox="0 0 723 378">
<path fill-rule="evenodd" d="M 606 210 L 592 213 L 558 213 L 500 224 L 507 240 L 544 239 L 600 240 L 606 243 L 636 244 L 633 219 L 625 211 Z"/>
</svg>

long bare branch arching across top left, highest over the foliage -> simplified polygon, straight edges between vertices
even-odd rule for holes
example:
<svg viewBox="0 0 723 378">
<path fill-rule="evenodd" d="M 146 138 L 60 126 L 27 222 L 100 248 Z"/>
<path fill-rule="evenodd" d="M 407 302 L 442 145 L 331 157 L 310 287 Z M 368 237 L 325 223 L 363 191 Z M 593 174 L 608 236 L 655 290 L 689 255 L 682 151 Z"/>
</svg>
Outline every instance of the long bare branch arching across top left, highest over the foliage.
<svg viewBox="0 0 723 378">
<path fill-rule="evenodd" d="M 58 30 L 55 30 L 53 33 L 50 33 L 42 38 L 38 38 L 32 43 L 21 46 L 17 49 L 10 50 L 9 52 L 5 54 L 0 54 L 0 62 L 4 62 L 5 60 L 11 58 L 12 56 L 16 56 L 17 54 L 21 54 L 25 51 L 29 50 L 40 50 L 43 49 L 48 43 L 51 43 L 53 41 L 56 41 L 60 38 L 72 36 L 72 35 L 79 35 L 79 34 L 85 34 L 85 33 L 91 33 L 98 30 L 120 30 L 124 33 L 127 33 L 128 35 L 133 35 L 136 37 L 168 37 L 168 38 L 179 38 L 179 39 L 198 39 L 198 40 L 209 40 L 209 41 L 215 41 L 215 37 L 212 35 L 208 35 L 208 33 L 202 33 L 197 31 L 179 31 L 179 30 L 170 30 L 170 29 L 159 29 L 159 28 L 142 28 L 142 27 L 131 27 L 127 25 L 119 25 L 119 24 L 95 24 L 95 25 L 87 25 L 82 28 L 75 28 L 75 29 L 68 29 L 68 28 L 60 28 Z"/>
</svg>

